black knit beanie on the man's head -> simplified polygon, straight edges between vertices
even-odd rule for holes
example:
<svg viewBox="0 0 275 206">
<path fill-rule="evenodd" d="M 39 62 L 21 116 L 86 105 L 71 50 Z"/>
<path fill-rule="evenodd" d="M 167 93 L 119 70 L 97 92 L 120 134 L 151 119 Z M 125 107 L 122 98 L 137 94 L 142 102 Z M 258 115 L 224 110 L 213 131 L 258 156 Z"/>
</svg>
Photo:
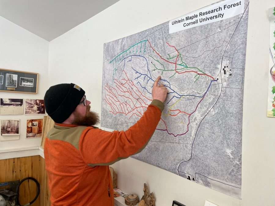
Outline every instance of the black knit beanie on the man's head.
<svg viewBox="0 0 275 206">
<path fill-rule="evenodd" d="M 58 84 L 51 86 L 44 96 L 46 112 L 56 123 L 62 123 L 79 105 L 85 91 L 78 85 Z"/>
</svg>

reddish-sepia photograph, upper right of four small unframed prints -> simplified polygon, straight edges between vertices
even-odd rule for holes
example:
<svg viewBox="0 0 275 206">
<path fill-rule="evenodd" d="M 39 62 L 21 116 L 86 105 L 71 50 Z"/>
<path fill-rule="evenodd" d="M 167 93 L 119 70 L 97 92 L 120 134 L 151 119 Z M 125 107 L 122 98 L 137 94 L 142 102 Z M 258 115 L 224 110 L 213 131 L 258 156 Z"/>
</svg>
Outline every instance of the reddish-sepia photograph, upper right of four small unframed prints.
<svg viewBox="0 0 275 206">
<path fill-rule="evenodd" d="M 43 99 L 25 99 L 25 114 L 45 114 Z"/>
</svg>

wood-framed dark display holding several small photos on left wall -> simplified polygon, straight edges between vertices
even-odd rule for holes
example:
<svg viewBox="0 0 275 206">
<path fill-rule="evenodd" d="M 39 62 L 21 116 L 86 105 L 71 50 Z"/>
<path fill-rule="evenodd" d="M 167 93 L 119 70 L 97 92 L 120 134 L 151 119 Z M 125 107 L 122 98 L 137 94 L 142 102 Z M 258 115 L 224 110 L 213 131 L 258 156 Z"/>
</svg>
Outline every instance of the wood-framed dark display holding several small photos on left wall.
<svg viewBox="0 0 275 206">
<path fill-rule="evenodd" d="M 2 92 L 36 94 L 37 86 L 38 73 L 0 69 L 0 91 Z"/>
</svg>

